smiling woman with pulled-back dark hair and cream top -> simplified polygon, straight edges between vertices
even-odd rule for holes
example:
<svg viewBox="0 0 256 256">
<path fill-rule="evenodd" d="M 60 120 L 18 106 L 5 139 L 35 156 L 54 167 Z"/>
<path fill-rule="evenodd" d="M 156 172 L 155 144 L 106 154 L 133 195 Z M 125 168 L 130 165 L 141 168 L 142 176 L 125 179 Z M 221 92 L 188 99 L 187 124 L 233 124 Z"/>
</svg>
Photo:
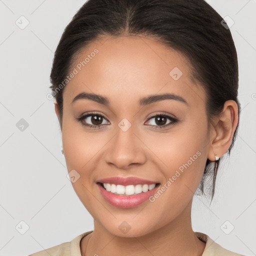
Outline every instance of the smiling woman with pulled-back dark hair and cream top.
<svg viewBox="0 0 256 256">
<path fill-rule="evenodd" d="M 203 0 L 89 0 L 65 28 L 52 95 L 94 230 L 39 255 L 239 255 L 191 227 L 238 127 L 238 65 Z M 198 188 L 198 189 L 197 189 Z"/>
</svg>

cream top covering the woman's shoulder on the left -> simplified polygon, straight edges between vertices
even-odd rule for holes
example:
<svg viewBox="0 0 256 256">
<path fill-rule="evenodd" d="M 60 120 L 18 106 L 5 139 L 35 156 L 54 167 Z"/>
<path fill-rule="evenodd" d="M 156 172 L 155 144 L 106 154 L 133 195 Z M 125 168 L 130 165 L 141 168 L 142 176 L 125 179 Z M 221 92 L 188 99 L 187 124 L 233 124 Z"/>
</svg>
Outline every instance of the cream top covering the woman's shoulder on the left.
<svg viewBox="0 0 256 256">
<path fill-rule="evenodd" d="M 28 256 L 81 256 L 80 240 L 90 232 L 92 232 L 92 230 L 77 235 L 69 242 L 60 243 L 53 247 L 29 254 Z"/>
</svg>

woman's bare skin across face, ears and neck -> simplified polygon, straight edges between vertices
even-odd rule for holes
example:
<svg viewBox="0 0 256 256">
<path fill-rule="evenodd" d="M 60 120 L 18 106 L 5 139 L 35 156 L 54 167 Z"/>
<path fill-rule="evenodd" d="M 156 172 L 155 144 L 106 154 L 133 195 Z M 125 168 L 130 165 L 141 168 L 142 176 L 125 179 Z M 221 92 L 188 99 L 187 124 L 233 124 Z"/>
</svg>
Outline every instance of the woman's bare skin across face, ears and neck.
<svg viewBox="0 0 256 256">
<path fill-rule="evenodd" d="M 184 55 L 153 38 L 106 36 L 84 48 L 73 67 L 95 48 L 96 56 L 64 88 L 60 123 L 67 170 L 80 174 L 73 188 L 94 219 L 93 232 L 80 242 L 81 255 L 201 255 L 205 243 L 191 227 L 192 198 L 207 158 L 214 161 L 215 154 L 222 156 L 231 144 L 237 104 L 227 100 L 222 114 L 207 126 L 206 95 L 191 79 Z M 169 75 L 174 67 L 183 73 L 178 80 Z M 110 105 L 89 99 L 71 103 L 80 92 L 105 96 Z M 138 104 L 141 97 L 165 92 L 188 104 L 173 99 Z M 75 119 L 90 111 L 106 118 L 103 128 L 89 128 Z M 61 120 L 57 103 L 55 112 Z M 160 125 L 149 115 L 161 113 L 178 122 L 157 129 Z M 131 123 L 125 132 L 118 127 L 123 118 Z M 91 117 L 83 121 L 92 123 Z M 136 176 L 161 187 L 197 151 L 200 156 L 153 202 L 114 207 L 96 185 L 100 178 Z M 131 227 L 125 234 L 118 228 L 123 221 Z"/>
</svg>

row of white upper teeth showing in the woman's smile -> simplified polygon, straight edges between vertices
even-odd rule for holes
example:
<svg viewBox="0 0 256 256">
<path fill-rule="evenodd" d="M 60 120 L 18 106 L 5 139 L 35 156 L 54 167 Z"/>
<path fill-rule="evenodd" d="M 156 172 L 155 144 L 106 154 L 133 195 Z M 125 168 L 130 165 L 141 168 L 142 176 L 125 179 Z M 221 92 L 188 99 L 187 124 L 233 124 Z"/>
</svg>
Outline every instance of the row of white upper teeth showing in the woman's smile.
<svg viewBox="0 0 256 256">
<path fill-rule="evenodd" d="M 103 183 L 106 191 L 114 193 L 114 194 L 122 194 L 122 195 L 131 195 L 138 194 L 141 192 L 147 192 L 155 187 L 155 184 L 137 184 L 137 185 L 115 185 L 109 183 Z"/>
</svg>

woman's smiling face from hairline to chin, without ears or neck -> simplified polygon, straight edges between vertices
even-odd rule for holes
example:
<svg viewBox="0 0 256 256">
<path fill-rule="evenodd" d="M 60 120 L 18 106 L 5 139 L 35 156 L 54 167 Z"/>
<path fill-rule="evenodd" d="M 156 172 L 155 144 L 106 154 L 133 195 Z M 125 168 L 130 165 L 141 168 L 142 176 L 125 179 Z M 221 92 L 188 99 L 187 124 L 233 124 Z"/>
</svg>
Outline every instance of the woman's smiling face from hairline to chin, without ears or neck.
<svg viewBox="0 0 256 256">
<path fill-rule="evenodd" d="M 104 37 L 84 48 L 70 70 L 75 74 L 63 91 L 63 150 L 73 188 L 94 224 L 131 237 L 181 216 L 187 221 L 209 150 L 205 93 L 191 79 L 188 59 L 151 38 Z M 76 97 L 80 93 L 107 99 Z M 172 95 L 154 97 L 165 93 Z M 120 195 L 97 183 L 109 177 L 159 184 L 145 192 L 146 200 L 142 191 L 133 204 L 118 198 L 110 203 Z M 129 231 L 122 232 L 122 225 Z"/>
</svg>

